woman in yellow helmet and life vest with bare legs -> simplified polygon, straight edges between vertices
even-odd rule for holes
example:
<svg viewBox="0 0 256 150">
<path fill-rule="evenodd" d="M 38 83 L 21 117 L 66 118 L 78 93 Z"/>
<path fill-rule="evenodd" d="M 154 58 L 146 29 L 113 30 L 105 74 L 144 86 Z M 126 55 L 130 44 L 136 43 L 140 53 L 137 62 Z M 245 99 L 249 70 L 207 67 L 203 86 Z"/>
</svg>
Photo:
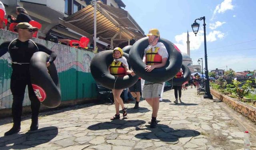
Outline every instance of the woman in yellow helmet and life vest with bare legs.
<svg viewBox="0 0 256 150">
<path fill-rule="evenodd" d="M 113 62 L 109 65 L 109 72 L 118 78 L 122 78 L 126 74 L 135 75 L 133 71 L 129 70 L 128 62 L 125 57 L 123 57 L 123 50 L 119 47 L 114 48 L 113 51 Z M 114 87 L 115 88 L 115 87 Z M 116 114 L 110 120 L 120 119 L 119 106 L 122 107 L 123 117 L 127 116 L 127 108 L 124 107 L 124 102 L 120 97 L 123 90 L 112 89 L 114 95 L 114 103 L 116 107 Z"/>
</svg>

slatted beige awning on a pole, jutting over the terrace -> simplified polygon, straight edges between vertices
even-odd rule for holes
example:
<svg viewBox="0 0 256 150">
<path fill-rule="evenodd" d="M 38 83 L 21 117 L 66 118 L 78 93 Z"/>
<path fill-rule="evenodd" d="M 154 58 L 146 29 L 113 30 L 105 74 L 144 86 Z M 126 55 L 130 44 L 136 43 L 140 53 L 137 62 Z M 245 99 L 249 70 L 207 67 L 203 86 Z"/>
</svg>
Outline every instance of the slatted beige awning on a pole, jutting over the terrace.
<svg viewBox="0 0 256 150">
<path fill-rule="evenodd" d="M 114 11 L 116 12 L 113 13 Z M 96 18 L 97 38 L 103 42 L 110 43 L 112 40 L 117 46 L 124 41 L 144 37 L 143 30 L 131 19 L 127 11 L 120 8 L 98 2 Z M 93 40 L 94 7 L 88 5 L 64 20 L 59 18 L 59 23 Z"/>
</svg>

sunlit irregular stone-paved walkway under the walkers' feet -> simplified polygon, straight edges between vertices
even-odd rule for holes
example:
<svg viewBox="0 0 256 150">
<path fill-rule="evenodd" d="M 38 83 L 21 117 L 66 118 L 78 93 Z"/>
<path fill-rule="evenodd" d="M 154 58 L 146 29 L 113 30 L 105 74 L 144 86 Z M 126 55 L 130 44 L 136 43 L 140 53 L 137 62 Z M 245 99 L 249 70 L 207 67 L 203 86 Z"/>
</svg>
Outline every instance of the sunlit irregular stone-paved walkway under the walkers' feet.
<svg viewBox="0 0 256 150">
<path fill-rule="evenodd" d="M 145 100 L 139 110 L 132 109 L 134 102 L 125 104 L 128 116 L 114 121 L 110 121 L 114 105 L 105 104 L 40 113 L 39 130 L 33 132 L 28 132 L 31 120 L 24 116 L 21 132 L 11 136 L 4 136 L 11 118 L 1 119 L 0 150 L 243 150 L 244 129 L 221 102 L 203 99 L 195 88 L 182 94 L 184 103 L 174 104 L 174 90 L 164 92 L 160 122 L 153 129 L 149 128 L 152 110 Z M 250 140 L 256 150 L 256 139 Z"/>
</svg>

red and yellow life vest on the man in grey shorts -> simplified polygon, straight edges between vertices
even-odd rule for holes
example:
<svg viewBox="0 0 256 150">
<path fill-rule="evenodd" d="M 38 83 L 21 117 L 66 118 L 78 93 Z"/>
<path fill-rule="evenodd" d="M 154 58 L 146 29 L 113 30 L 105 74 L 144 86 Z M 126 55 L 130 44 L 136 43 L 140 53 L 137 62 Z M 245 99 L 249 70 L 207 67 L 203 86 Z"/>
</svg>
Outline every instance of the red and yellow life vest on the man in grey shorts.
<svg viewBox="0 0 256 150">
<path fill-rule="evenodd" d="M 159 47 L 155 48 L 155 51 L 152 51 L 150 48 L 146 51 L 146 64 L 147 65 L 154 65 L 162 63 L 162 56 L 158 54 Z"/>
</svg>

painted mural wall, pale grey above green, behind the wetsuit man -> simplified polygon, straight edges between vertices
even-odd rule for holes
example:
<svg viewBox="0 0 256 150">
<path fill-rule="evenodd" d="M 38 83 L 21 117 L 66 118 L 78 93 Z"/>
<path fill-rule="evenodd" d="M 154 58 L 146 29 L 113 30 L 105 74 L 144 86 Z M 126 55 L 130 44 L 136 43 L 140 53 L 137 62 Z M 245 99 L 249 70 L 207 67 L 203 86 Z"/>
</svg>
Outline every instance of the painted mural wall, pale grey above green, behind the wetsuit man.
<svg viewBox="0 0 256 150">
<path fill-rule="evenodd" d="M 18 34 L 0 30 L 0 44 L 15 38 L 18 38 Z M 93 52 L 38 38 L 32 40 L 45 45 L 58 55 L 54 63 L 60 80 L 62 101 L 97 97 L 95 80 L 90 73 L 90 63 L 95 56 Z M 11 59 L 9 53 L 6 53 L 0 57 L 0 109 L 11 108 L 12 106 L 11 74 Z M 29 105 L 30 100 L 26 88 L 23 106 Z"/>
</svg>

